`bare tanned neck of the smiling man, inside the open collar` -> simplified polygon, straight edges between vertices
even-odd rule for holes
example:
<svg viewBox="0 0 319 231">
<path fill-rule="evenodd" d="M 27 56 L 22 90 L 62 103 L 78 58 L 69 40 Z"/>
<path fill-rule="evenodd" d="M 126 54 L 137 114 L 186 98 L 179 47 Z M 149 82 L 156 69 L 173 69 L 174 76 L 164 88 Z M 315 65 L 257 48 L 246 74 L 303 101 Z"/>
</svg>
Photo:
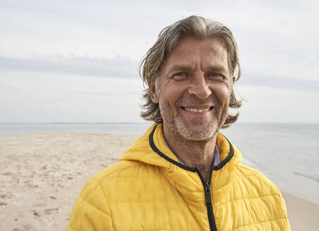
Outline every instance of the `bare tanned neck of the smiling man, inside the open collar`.
<svg viewBox="0 0 319 231">
<path fill-rule="evenodd" d="M 179 135 L 171 135 L 164 128 L 164 137 L 174 154 L 186 166 L 197 167 L 207 182 L 214 159 L 217 134 L 207 140 L 193 141 L 186 140 Z"/>
</svg>

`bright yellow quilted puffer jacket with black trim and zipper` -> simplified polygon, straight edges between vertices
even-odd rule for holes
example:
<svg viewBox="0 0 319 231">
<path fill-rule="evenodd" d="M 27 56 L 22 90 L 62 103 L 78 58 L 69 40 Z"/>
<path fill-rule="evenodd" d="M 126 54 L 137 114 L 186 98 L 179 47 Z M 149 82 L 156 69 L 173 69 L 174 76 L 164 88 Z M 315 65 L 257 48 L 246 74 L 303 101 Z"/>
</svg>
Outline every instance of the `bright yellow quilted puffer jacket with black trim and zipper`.
<svg viewBox="0 0 319 231">
<path fill-rule="evenodd" d="M 83 188 L 67 230 L 290 230 L 279 189 L 217 135 L 210 187 L 183 166 L 152 125 L 118 163 Z"/>
</svg>

